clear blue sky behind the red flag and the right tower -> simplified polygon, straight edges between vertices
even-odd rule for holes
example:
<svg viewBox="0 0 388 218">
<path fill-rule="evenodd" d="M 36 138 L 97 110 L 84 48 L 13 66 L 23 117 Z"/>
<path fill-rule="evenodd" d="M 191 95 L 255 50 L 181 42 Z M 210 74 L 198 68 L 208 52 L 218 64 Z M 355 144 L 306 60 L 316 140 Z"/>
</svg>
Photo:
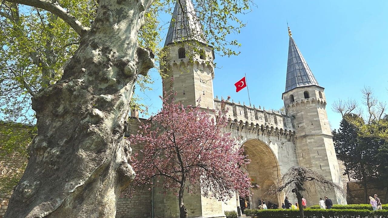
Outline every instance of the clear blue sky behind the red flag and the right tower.
<svg viewBox="0 0 388 218">
<path fill-rule="evenodd" d="M 230 95 L 246 102 L 245 90 L 236 93 L 234 83 L 247 76 L 251 102 L 279 109 L 285 89 L 288 56 L 287 24 L 320 86 L 325 88 L 327 114 L 332 128 L 341 117 L 332 111 L 337 99 L 362 102 L 360 90 L 373 88 L 388 101 L 388 1 L 374 0 L 266 0 L 241 16 L 247 23 L 236 38 L 242 46 L 236 57 L 216 57 L 215 95 Z M 170 19 L 168 16 L 167 19 Z M 163 33 L 165 36 L 165 33 Z M 161 78 L 151 71 L 154 90 L 144 93 L 149 111 L 161 108 Z M 141 115 L 140 115 L 141 116 Z"/>
</svg>

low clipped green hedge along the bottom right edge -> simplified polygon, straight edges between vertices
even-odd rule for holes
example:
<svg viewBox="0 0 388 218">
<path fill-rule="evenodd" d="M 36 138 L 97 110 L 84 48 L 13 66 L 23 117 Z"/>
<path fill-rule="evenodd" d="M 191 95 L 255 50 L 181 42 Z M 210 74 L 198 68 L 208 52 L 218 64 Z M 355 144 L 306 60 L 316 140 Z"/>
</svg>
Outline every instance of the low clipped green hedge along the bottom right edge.
<svg viewBox="0 0 388 218">
<path fill-rule="evenodd" d="M 388 210 L 367 209 L 304 209 L 305 218 L 387 218 Z M 299 210 L 267 209 L 258 210 L 258 218 L 299 218 Z"/>
</svg>

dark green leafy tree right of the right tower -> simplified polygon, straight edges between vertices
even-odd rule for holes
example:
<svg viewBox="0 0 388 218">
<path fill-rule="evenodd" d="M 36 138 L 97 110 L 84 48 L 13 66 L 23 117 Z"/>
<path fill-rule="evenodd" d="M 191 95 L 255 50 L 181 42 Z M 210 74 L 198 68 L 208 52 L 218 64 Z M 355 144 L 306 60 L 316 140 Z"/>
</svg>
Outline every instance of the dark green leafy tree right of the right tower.
<svg viewBox="0 0 388 218">
<path fill-rule="evenodd" d="M 338 159 L 345 164 L 345 173 L 364 182 L 364 199 L 368 202 L 368 183 L 382 182 L 387 176 L 385 166 L 381 164 L 386 162 L 382 159 L 385 157 L 386 141 L 380 137 L 360 135 L 357 126 L 364 125 L 363 122 L 355 114 L 346 115 L 346 119 L 341 121 L 340 130 L 333 131 L 333 141 Z"/>
</svg>

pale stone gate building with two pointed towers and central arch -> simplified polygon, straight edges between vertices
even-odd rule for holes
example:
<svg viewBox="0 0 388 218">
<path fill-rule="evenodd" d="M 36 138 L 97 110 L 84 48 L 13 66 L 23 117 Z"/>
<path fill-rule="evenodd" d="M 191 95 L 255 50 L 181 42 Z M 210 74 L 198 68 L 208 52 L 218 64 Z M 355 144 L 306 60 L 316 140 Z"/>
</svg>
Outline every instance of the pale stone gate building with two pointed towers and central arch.
<svg viewBox="0 0 388 218">
<path fill-rule="evenodd" d="M 183 9 L 183 10 L 182 10 Z M 163 86 L 177 92 L 175 99 L 185 106 L 196 105 L 201 98 L 200 107 L 220 109 L 221 100 L 214 98 L 213 47 L 203 39 L 201 25 L 194 12 L 191 0 L 175 5 L 165 47 L 168 59 L 161 70 L 168 76 Z M 188 45 L 196 42 L 196 48 Z M 248 173 L 252 182 L 260 185 L 253 189 L 249 199 L 251 208 L 257 208 L 258 199 L 264 198 L 281 205 L 285 196 L 271 197 L 262 194 L 270 185 L 291 166 L 307 166 L 333 182 L 341 184 L 340 168 L 326 113 L 324 88 L 319 85 L 312 71 L 296 46 L 289 31 L 286 89 L 282 93 L 284 113 L 267 111 L 227 102 L 229 125 L 225 129 L 244 146 L 251 163 Z M 194 52 L 194 50 L 199 52 Z M 280 93 L 279 93 L 280 95 Z M 133 112 L 132 116 L 137 116 Z M 144 120 L 143 120 L 144 121 Z M 138 121 L 132 121 L 135 133 Z M 134 149 L 138 149 L 135 145 Z M 307 199 L 308 204 L 317 204 L 319 197 L 328 195 L 333 203 L 345 204 L 346 200 L 335 193 L 318 193 L 314 190 Z M 290 201 L 295 202 L 294 196 Z M 189 217 L 222 217 L 224 211 L 237 210 L 238 196 L 227 204 L 208 199 L 200 194 L 185 196 Z M 133 199 L 121 198 L 116 217 L 160 217 L 179 216 L 176 196 L 162 196 L 158 190 L 144 191 Z"/>
</svg>

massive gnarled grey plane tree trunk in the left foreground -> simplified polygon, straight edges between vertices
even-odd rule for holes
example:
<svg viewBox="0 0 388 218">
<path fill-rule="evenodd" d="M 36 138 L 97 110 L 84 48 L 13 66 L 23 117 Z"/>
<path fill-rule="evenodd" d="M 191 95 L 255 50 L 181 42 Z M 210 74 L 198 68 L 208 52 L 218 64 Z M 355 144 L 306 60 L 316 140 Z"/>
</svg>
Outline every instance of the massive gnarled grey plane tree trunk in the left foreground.
<svg viewBox="0 0 388 218">
<path fill-rule="evenodd" d="M 153 67 L 137 32 L 152 0 L 100 0 L 62 79 L 33 97 L 38 135 L 7 218 L 114 218 L 133 179 L 123 140 L 137 74 Z"/>
</svg>

